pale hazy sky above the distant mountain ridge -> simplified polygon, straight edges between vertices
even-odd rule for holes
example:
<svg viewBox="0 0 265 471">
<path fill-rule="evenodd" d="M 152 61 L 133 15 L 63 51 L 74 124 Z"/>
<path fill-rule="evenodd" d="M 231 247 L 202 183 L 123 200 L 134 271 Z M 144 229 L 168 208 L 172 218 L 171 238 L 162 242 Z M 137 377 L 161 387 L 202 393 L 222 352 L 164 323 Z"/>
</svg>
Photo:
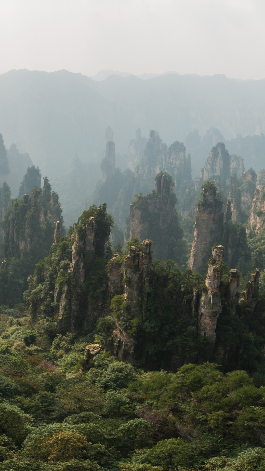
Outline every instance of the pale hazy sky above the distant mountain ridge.
<svg viewBox="0 0 265 471">
<path fill-rule="evenodd" d="M 264 0 L 0 0 L 0 73 L 265 78 Z"/>
</svg>

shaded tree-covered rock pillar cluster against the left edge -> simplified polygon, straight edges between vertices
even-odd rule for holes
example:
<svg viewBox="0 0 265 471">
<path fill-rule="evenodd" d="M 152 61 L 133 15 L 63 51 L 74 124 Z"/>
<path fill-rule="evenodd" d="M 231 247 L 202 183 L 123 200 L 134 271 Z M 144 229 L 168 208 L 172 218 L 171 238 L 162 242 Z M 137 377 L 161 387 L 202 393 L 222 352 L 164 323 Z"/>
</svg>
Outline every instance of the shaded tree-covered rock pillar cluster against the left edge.
<svg viewBox="0 0 265 471">
<path fill-rule="evenodd" d="M 41 182 L 39 170 L 28 169 L 21 188 L 31 187 L 36 179 Z M 56 223 L 63 223 L 63 218 L 58 195 L 51 190 L 47 177 L 42 188 L 33 187 L 31 194 L 25 193 L 22 199 L 9 201 L 8 189 L 3 184 L 0 303 L 14 306 L 21 302 L 35 264 L 49 254 Z"/>
</svg>

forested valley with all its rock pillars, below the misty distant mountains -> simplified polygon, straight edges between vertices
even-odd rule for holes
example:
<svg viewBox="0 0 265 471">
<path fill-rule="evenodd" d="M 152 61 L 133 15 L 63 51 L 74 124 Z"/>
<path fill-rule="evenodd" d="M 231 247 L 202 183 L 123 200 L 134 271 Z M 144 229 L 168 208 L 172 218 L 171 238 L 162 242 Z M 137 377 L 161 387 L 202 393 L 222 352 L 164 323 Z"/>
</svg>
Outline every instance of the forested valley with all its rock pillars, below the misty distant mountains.
<svg viewBox="0 0 265 471">
<path fill-rule="evenodd" d="M 265 469 L 265 170 L 217 131 L 43 179 L 0 136 L 0 470 Z"/>
</svg>

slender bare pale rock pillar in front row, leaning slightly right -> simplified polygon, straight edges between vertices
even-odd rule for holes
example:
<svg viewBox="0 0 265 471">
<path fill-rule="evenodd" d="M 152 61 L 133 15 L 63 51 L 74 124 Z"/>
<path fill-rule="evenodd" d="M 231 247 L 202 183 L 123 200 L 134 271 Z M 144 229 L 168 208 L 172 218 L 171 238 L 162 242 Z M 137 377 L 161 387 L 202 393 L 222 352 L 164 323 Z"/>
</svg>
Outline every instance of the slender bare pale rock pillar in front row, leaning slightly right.
<svg viewBox="0 0 265 471">
<path fill-rule="evenodd" d="M 213 351 L 215 346 L 217 319 L 222 312 L 219 286 L 222 276 L 223 260 L 224 246 L 217 245 L 217 247 L 213 249 L 212 257 L 208 264 L 205 282 L 207 293 L 202 293 L 198 305 L 199 332 L 209 340 L 211 351 Z"/>
</svg>

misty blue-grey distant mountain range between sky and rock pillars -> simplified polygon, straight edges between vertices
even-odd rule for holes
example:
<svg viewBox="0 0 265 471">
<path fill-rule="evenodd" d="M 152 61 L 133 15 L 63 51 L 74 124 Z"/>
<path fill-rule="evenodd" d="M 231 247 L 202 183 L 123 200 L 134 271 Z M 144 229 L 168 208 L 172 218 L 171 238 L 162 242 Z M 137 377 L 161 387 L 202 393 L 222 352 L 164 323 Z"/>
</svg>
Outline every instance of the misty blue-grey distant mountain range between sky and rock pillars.
<svg viewBox="0 0 265 471">
<path fill-rule="evenodd" d="M 110 75 L 96 81 L 66 70 L 25 69 L 0 75 L 0 132 L 5 145 L 15 143 L 20 152 L 29 153 L 43 175 L 69 171 L 75 154 L 84 163 L 100 162 L 108 126 L 114 131 L 117 154 L 127 153 L 137 128 L 146 137 L 151 129 L 158 130 L 168 144 L 176 139 L 185 142 L 193 133 L 186 146 L 194 176 L 216 143 L 211 137 L 205 154 L 201 138 L 215 128 L 230 153 L 240 154 L 246 168 L 259 171 L 255 153 L 243 155 L 240 138 L 231 146 L 227 141 L 237 134 L 265 132 L 265 80 L 168 73 L 147 80 Z M 261 139 L 257 136 L 257 146 Z M 194 152 L 195 147 L 200 151 Z"/>
</svg>

